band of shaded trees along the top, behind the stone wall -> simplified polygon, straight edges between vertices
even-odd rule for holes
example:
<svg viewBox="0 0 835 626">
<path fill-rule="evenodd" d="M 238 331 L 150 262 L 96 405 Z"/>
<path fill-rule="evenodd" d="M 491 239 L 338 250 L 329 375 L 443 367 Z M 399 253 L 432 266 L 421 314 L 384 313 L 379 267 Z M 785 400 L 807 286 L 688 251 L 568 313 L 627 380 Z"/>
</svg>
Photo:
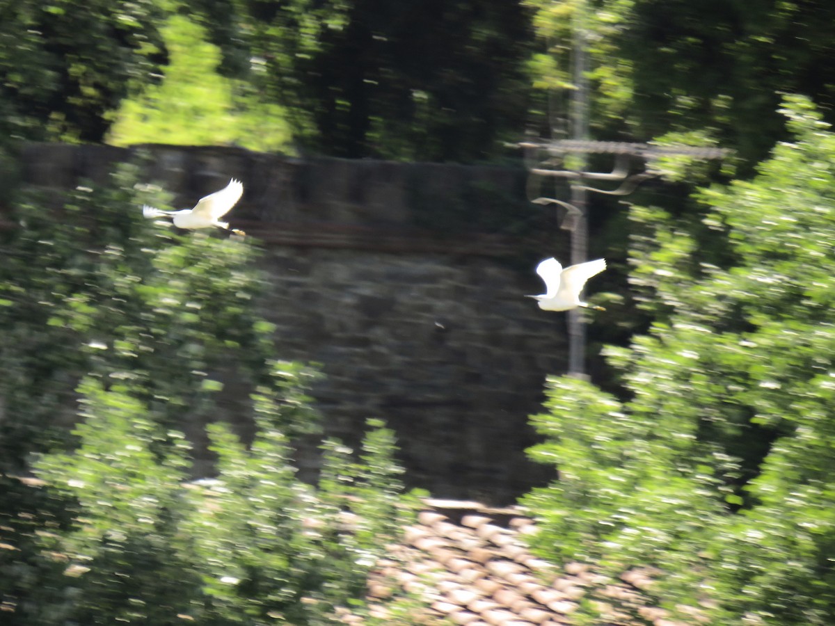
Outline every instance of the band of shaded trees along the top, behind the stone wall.
<svg viewBox="0 0 835 626">
<path fill-rule="evenodd" d="M 115 11 L 99 0 L 6 3 L 0 108 L 8 134 L 100 141 L 119 103 L 166 74 L 168 94 L 151 93 L 145 106 L 179 97 L 170 110 L 192 116 L 181 141 L 190 125 L 195 141 L 214 126 L 218 141 L 244 133 L 258 145 L 261 115 L 286 118 L 296 146 L 319 154 L 496 159 L 526 130 L 564 130 L 582 30 L 597 138 L 674 134 L 734 148 L 752 166 L 783 136 L 779 93 L 805 93 L 825 115 L 835 103 L 833 12 L 820 0 L 144 0 Z M 189 66 L 165 66 L 161 30 L 173 13 L 205 26 L 220 73 L 238 81 L 231 103 L 218 95 L 222 110 L 200 106 L 200 83 L 221 92 L 229 83 L 198 46 L 191 71 L 205 80 L 177 93 Z M 133 110 L 128 125 L 141 128 Z M 131 134 L 124 120 L 121 132 Z"/>
</svg>

